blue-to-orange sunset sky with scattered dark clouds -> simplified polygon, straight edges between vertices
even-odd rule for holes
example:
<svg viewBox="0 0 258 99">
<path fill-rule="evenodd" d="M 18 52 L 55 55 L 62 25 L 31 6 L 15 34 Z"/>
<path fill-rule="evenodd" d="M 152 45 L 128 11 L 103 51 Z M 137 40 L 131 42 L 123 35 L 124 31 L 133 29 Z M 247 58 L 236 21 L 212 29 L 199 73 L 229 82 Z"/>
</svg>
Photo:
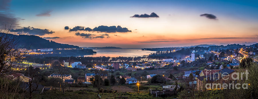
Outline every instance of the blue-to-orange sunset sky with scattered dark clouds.
<svg viewBox="0 0 258 99">
<path fill-rule="evenodd" d="M 258 42 L 258 1 L 0 1 L 1 29 L 80 47 Z"/>
</svg>

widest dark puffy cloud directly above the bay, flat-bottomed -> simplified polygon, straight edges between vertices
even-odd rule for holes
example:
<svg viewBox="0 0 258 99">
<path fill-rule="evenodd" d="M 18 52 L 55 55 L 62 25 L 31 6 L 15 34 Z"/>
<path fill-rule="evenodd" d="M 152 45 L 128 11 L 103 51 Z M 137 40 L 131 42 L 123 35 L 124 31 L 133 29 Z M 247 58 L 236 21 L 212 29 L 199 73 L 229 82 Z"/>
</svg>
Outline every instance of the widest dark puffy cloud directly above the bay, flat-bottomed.
<svg viewBox="0 0 258 99">
<path fill-rule="evenodd" d="M 126 27 L 122 28 L 121 26 L 98 26 L 93 29 L 93 31 L 99 31 L 99 32 L 107 32 L 107 33 L 114 33 L 114 32 L 132 32 L 131 30 L 128 30 Z"/>
</svg>

